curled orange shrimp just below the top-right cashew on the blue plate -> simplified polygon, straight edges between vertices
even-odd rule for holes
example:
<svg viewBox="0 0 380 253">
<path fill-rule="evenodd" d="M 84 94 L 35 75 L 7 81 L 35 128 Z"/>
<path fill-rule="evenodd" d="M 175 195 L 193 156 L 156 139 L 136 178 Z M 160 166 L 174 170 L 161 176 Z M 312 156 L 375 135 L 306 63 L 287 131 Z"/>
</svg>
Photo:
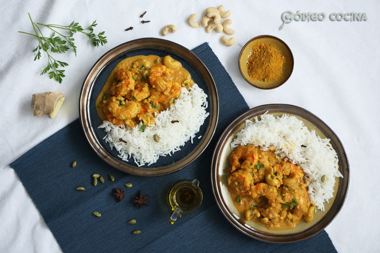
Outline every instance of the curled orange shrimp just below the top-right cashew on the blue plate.
<svg viewBox="0 0 380 253">
<path fill-rule="evenodd" d="M 156 65 L 149 71 L 149 82 L 153 88 L 164 92 L 172 87 L 171 74 L 173 70 L 164 65 Z"/>
</svg>

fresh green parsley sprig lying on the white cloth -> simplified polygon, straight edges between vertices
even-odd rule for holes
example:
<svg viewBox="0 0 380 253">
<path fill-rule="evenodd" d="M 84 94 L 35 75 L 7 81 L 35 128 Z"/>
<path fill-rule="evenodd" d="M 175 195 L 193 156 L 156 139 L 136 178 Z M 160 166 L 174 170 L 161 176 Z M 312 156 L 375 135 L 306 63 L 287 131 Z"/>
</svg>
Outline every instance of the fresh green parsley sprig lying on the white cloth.
<svg viewBox="0 0 380 253">
<path fill-rule="evenodd" d="M 28 34 L 31 36 L 34 36 L 38 39 L 39 44 L 38 46 L 33 50 L 33 52 L 37 52 L 34 61 L 40 60 L 41 58 L 41 50 L 43 52 L 46 52 L 48 56 L 48 65 L 46 68 L 44 68 L 41 72 L 41 75 L 48 73 L 50 79 L 54 78 L 59 83 L 62 82 L 62 78 L 65 77 L 63 69 L 58 69 L 59 67 L 66 67 L 68 64 L 66 62 L 61 62 L 56 60 L 54 57 L 52 57 L 49 54 L 52 53 L 66 53 L 70 48 L 73 49 L 75 56 L 77 56 L 77 46 L 74 45 L 74 38 L 73 35 L 76 32 L 81 32 L 85 35 L 87 35 L 90 38 L 91 44 L 99 47 L 99 45 L 103 46 L 107 43 L 107 39 L 104 36 L 104 31 L 99 32 L 98 34 L 94 33 L 94 27 L 97 25 L 96 21 L 94 21 L 89 27 L 82 28 L 82 26 L 79 25 L 78 22 L 72 21 L 71 24 L 63 26 L 63 25 L 55 25 L 55 24 L 42 24 L 42 23 L 35 23 L 31 19 L 30 13 L 28 13 L 30 22 L 32 23 L 32 27 L 35 34 L 31 34 L 28 32 L 18 31 L 20 33 Z M 45 26 L 48 27 L 50 30 L 53 31 L 52 35 L 50 37 L 46 37 L 43 35 L 41 29 L 39 26 Z M 68 32 L 68 35 L 64 35 L 63 32 L 66 30 Z M 50 72 L 49 72 L 50 70 Z"/>
</svg>

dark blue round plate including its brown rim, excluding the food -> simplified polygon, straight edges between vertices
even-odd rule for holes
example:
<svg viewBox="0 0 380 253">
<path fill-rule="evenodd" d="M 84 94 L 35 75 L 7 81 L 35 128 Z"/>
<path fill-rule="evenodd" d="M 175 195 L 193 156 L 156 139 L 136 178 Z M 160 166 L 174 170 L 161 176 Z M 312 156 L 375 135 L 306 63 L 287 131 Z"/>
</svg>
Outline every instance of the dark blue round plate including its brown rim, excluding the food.
<svg viewBox="0 0 380 253">
<path fill-rule="evenodd" d="M 105 133 L 102 129 L 98 129 L 102 121 L 98 117 L 95 107 L 96 98 L 112 69 L 121 60 L 136 55 L 170 55 L 180 61 L 208 96 L 206 111 L 210 113 L 197 134 L 202 138 L 194 138 L 193 143 L 186 142 L 181 150 L 172 156 L 160 157 L 156 163 L 141 167 L 134 163 L 133 158 L 123 161 L 118 157 L 118 152 L 115 149 L 111 150 L 109 144 L 105 143 L 103 140 Z M 205 150 L 216 129 L 219 100 L 210 71 L 192 51 L 169 40 L 140 38 L 111 49 L 94 64 L 83 83 L 79 100 L 79 115 L 87 140 L 95 153 L 105 162 L 129 174 L 148 177 L 161 176 L 179 171 L 197 159 Z"/>
</svg>

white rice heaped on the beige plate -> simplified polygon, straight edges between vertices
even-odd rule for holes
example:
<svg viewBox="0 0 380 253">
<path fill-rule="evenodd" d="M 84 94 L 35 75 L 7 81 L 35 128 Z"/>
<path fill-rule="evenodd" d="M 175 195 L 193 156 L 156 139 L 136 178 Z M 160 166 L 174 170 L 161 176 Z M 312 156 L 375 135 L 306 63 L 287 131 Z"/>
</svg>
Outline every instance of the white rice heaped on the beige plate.
<svg viewBox="0 0 380 253">
<path fill-rule="evenodd" d="M 285 114 L 275 118 L 266 112 L 260 118 L 246 120 L 245 128 L 236 135 L 231 148 L 247 144 L 260 146 L 262 150 L 276 147 L 281 158 L 287 157 L 302 168 L 310 200 L 324 211 L 323 202 L 333 197 L 335 177 L 343 177 L 338 171 L 338 158 L 330 140 L 316 136 L 314 130 L 309 131 L 294 116 Z M 321 182 L 323 175 L 326 180 Z"/>
</svg>

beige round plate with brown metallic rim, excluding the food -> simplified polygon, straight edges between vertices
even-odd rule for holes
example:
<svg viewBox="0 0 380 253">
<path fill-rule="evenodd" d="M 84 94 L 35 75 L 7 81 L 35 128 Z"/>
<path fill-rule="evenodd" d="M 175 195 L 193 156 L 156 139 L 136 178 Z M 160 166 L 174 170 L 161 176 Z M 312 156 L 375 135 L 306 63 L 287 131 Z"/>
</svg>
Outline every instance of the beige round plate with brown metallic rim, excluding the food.
<svg viewBox="0 0 380 253">
<path fill-rule="evenodd" d="M 315 130 L 317 136 L 330 139 L 332 147 L 335 149 L 339 159 L 339 171 L 343 178 L 335 178 L 333 197 L 329 203 L 325 203 L 325 211 L 317 210 L 311 223 L 301 222 L 293 229 L 268 230 L 252 221 L 246 221 L 233 204 L 231 194 L 227 188 L 227 176 L 231 167 L 229 157 L 232 152 L 230 144 L 236 134 L 245 126 L 245 120 L 253 120 L 254 116 L 259 116 L 265 112 L 274 116 L 288 114 L 302 120 L 309 131 Z M 220 136 L 211 162 L 211 182 L 212 190 L 216 202 L 224 217 L 243 234 L 252 238 L 276 243 L 295 242 L 310 238 L 324 229 L 339 213 L 343 206 L 350 179 L 349 161 L 343 145 L 335 133 L 317 116 L 311 112 L 294 106 L 285 104 L 269 104 L 255 107 L 237 117 Z"/>
</svg>

